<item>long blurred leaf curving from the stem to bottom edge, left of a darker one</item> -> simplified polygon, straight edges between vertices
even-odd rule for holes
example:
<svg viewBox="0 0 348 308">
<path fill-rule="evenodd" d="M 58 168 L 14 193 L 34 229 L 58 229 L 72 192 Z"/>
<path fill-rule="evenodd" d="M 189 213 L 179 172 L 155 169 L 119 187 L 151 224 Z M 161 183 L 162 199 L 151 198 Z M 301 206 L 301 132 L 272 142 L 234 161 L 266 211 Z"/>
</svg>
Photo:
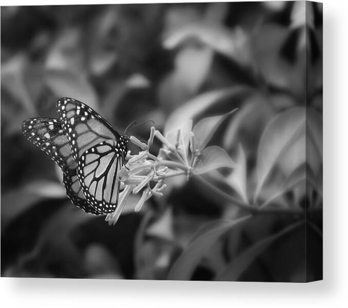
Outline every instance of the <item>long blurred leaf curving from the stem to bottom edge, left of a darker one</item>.
<svg viewBox="0 0 348 308">
<path fill-rule="evenodd" d="M 194 240 L 170 268 L 168 280 L 189 280 L 196 266 L 211 247 L 224 233 L 247 221 L 251 215 L 230 221 L 212 222 L 200 230 Z M 204 232 L 202 233 L 202 230 Z"/>
</svg>

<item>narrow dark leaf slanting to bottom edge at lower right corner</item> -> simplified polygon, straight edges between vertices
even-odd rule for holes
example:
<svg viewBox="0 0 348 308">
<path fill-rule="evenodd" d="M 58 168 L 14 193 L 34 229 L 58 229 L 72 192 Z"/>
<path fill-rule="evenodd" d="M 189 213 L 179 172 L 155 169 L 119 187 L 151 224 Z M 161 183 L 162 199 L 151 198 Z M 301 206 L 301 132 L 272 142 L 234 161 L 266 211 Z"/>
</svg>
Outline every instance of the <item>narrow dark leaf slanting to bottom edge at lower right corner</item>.
<svg viewBox="0 0 348 308">
<path fill-rule="evenodd" d="M 250 248 L 246 249 L 241 253 L 236 259 L 234 259 L 230 264 L 228 264 L 223 271 L 221 271 L 215 280 L 217 281 L 236 281 L 241 274 L 248 268 L 253 261 L 262 254 L 270 245 L 272 245 L 276 240 L 285 234 L 291 232 L 293 229 L 303 224 L 303 222 L 294 223 L 275 235 L 269 236 L 263 240 L 260 240 Z"/>
</svg>

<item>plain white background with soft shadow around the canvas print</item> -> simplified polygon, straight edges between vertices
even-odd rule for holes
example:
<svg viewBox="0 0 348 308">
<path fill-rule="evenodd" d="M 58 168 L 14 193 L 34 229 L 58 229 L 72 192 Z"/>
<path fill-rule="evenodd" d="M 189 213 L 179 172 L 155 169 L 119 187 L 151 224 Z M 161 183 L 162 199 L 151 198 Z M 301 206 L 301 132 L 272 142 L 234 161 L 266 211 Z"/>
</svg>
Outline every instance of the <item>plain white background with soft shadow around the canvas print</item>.
<svg viewBox="0 0 348 308">
<path fill-rule="evenodd" d="M 32 1 L 30 5 L 48 3 L 51 2 Z M 115 2 L 76 0 L 53 2 L 53 4 L 69 3 Z M 127 3 L 144 2 L 127 1 Z M 348 298 L 347 3 L 346 0 L 324 0 L 324 281 L 290 284 L 1 278 L 2 306 L 98 308 L 105 306 L 210 308 L 226 305 L 277 308 L 348 306 L 346 302 Z M 21 4 L 29 3 L 1 1 L 2 6 Z"/>
</svg>

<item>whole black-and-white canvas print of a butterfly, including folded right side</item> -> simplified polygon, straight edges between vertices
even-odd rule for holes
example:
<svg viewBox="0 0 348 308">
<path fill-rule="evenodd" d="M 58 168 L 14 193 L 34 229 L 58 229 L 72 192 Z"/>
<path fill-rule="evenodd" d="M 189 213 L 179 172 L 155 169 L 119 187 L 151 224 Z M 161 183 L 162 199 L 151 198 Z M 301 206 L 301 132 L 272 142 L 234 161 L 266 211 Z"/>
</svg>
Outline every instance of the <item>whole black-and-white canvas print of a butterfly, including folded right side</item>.
<svg viewBox="0 0 348 308">
<path fill-rule="evenodd" d="M 321 280 L 322 14 L 2 7 L 1 276 Z"/>
</svg>

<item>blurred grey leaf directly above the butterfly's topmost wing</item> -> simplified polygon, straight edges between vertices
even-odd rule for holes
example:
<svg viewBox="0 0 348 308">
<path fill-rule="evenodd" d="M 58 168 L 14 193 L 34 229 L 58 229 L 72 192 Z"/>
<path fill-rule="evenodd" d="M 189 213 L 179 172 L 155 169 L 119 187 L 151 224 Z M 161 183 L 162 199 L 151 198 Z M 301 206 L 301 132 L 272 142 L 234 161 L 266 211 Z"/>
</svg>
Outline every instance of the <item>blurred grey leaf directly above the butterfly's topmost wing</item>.
<svg viewBox="0 0 348 308">
<path fill-rule="evenodd" d="M 98 110 L 95 90 L 83 75 L 67 70 L 51 70 L 45 75 L 46 83 L 56 97 L 70 97 Z"/>
</svg>

